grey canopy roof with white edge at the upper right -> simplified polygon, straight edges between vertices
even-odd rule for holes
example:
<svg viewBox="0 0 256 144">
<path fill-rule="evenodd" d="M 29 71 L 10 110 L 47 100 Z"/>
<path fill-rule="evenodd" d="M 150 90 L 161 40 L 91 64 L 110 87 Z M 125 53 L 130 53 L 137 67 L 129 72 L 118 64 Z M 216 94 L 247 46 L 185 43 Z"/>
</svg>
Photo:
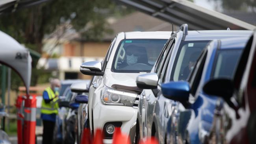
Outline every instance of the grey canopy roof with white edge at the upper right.
<svg viewBox="0 0 256 144">
<path fill-rule="evenodd" d="M 189 30 L 254 30 L 256 27 L 187 0 L 115 0 L 167 22 L 188 24 Z"/>
</svg>

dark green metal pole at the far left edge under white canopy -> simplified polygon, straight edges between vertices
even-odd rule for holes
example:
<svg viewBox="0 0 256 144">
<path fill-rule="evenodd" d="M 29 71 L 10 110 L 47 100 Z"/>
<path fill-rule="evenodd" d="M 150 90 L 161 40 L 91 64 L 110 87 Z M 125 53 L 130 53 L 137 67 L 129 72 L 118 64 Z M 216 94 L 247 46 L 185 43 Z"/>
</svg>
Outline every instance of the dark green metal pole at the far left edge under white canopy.
<svg viewBox="0 0 256 144">
<path fill-rule="evenodd" d="M 2 84 L 1 84 L 1 87 L 2 87 L 2 103 L 3 105 L 5 106 L 5 94 L 6 94 L 6 66 L 5 65 L 2 65 Z M 3 130 L 5 129 L 4 127 L 4 121 L 5 121 L 5 117 L 3 118 L 3 122 L 2 122 L 2 127 L 3 127 Z"/>
</svg>

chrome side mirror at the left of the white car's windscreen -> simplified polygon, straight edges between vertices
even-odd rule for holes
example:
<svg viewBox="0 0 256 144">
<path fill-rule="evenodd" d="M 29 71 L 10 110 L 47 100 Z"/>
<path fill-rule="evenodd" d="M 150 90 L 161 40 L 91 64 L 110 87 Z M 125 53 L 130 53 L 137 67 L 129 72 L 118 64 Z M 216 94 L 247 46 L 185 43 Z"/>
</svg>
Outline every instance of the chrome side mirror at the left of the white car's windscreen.
<svg viewBox="0 0 256 144">
<path fill-rule="evenodd" d="M 90 76 L 103 76 L 102 63 L 100 61 L 89 61 L 82 63 L 80 66 L 80 72 Z"/>
</svg>

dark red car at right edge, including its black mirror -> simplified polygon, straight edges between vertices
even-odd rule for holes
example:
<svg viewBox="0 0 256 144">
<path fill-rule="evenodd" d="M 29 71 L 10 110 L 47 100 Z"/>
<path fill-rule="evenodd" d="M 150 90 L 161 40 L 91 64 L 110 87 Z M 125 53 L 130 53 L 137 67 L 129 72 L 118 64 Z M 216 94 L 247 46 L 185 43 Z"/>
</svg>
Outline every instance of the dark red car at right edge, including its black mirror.
<svg viewBox="0 0 256 144">
<path fill-rule="evenodd" d="M 212 79 L 204 92 L 219 96 L 210 143 L 256 143 L 256 31 L 244 49 L 233 79 Z"/>
</svg>

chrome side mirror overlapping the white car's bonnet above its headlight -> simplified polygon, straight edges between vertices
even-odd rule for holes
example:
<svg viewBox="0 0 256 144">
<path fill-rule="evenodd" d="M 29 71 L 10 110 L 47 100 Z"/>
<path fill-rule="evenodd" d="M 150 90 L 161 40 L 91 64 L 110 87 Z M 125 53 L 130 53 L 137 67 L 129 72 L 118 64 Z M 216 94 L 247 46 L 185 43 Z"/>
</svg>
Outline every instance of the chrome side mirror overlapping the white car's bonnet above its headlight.
<svg viewBox="0 0 256 144">
<path fill-rule="evenodd" d="M 141 74 L 137 76 L 136 84 L 141 89 L 156 89 L 158 86 L 158 75 L 156 73 Z"/>
</svg>

